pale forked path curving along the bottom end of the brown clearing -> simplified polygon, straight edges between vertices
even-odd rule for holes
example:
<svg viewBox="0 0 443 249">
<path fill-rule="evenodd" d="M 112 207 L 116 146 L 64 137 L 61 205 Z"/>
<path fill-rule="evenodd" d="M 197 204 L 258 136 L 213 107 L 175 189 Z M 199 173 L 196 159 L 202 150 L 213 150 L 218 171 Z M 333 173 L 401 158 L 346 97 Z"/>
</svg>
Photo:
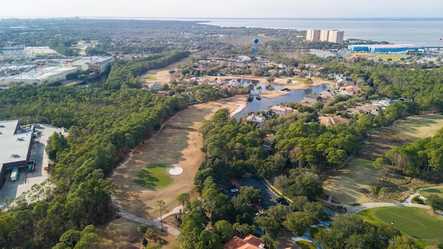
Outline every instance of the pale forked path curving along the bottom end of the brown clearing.
<svg viewBox="0 0 443 249">
<path fill-rule="evenodd" d="M 111 194 L 111 199 L 112 199 L 112 203 L 114 203 L 114 207 L 118 208 L 118 214 L 120 214 L 120 216 L 122 216 L 123 218 L 129 219 L 129 221 L 134 221 L 137 223 L 142 223 L 145 225 L 154 226 L 156 228 L 161 228 L 160 217 L 157 219 L 151 220 L 151 219 L 145 219 L 142 217 L 135 216 L 134 214 L 129 214 L 129 212 L 126 212 L 122 208 L 117 196 L 115 196 L 114 194 Z M 183 206 L 176 207 L 171 212 L 168 212 L 167 214 L 162 215 L 162 217 L 165 218 L 171 214 L 178 213 L 179 210 L 181 210 L 181 209 L 183 209 Z M 163 223 L 163 230 L 165 230 L 166 232 L 168 232 L 169 234 L 171 234 L 172 236 L 174 236 L 176 238 L 180 234 L 179 230 L 172 227 L 171 225 L 164 224 L 164 223 Z"/>
</svg>

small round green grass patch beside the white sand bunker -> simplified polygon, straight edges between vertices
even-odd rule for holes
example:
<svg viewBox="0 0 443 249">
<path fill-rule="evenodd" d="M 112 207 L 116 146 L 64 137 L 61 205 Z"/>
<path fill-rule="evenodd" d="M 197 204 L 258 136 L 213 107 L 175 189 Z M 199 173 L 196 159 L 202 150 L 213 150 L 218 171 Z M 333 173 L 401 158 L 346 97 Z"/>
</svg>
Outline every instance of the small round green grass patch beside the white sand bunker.
<svg viewBox="0 0 443 249">
<path fill-rule="evenodd" d="M 135 183 L 150 190 L 158 190 L 172 183 L 172 178 L 168 174 L 168 165 L 153 163 L 147 165 L 145 169 L 138 172 Z"/>
</svg>

